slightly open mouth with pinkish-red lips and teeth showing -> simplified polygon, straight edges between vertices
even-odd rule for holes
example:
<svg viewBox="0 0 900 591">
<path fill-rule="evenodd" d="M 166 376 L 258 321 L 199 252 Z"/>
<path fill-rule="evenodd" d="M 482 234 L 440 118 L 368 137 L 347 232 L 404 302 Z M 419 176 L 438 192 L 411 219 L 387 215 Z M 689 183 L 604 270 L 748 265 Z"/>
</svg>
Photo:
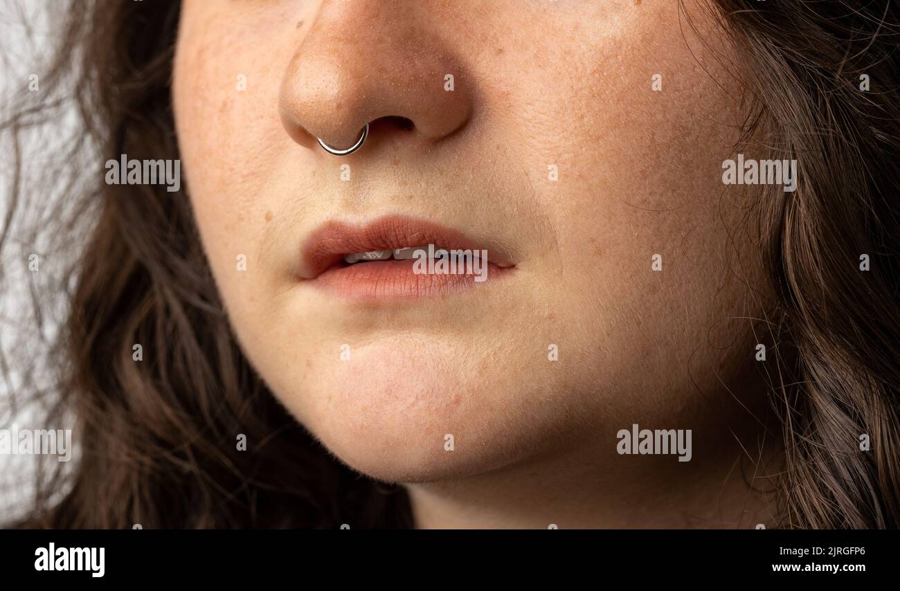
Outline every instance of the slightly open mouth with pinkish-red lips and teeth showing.
<svg viewBox="0 0 900 591">
<path fill-rule="evenodd" d="M 302 248 L 300 278 L 353 300 L 396 300 L 481 287 L 515 263 L 491 239 L 406 216 L 332 221 Z"/>
</svg>

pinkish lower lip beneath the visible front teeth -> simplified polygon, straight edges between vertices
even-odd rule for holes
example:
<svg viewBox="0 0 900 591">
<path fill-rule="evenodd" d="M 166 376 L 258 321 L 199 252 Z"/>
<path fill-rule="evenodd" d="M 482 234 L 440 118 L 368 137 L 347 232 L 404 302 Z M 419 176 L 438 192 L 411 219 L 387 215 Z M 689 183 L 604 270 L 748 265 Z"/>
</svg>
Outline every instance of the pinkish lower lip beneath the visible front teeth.
<svg viewBox="0 0 900 591">
<path fill-rule="evenodd" d="M 331 267 L 311 280 L 320 289 L 351 300 L 410 300 L 483 287 L 512 268 L 488 264 L 484 281 L 473 274 L 414 273 L 414 259 L 386 260 Z"/>
</svg>

